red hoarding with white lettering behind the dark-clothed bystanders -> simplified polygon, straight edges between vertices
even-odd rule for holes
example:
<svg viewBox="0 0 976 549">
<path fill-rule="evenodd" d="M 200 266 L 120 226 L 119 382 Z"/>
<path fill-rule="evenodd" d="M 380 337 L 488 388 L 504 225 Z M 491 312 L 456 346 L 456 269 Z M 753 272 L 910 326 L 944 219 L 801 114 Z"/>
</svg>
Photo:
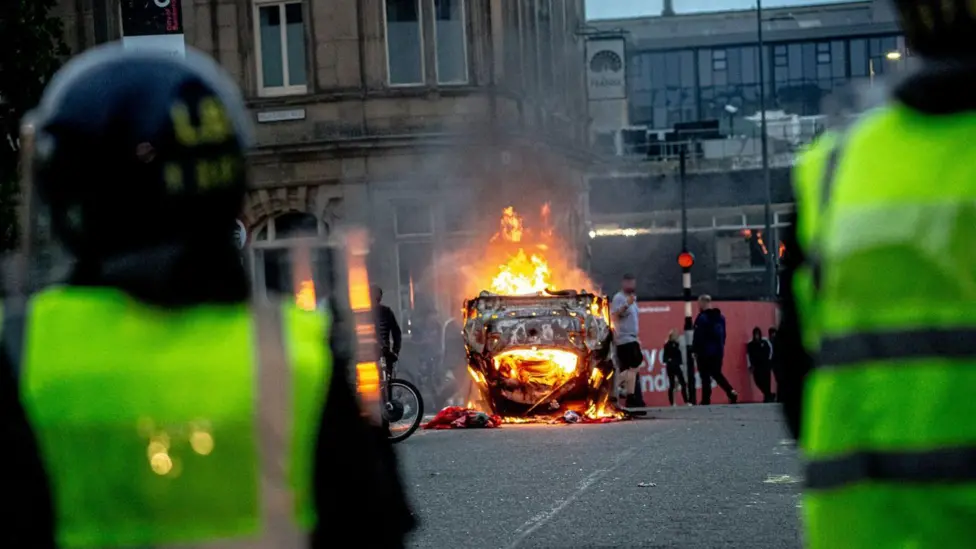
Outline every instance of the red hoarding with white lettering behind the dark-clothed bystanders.
<svg viewBox="0 0 976 549">
<path fill-rule="evenodd" d="M 776 325 L 776 305 L 741 301 L 716 301 L 715 307 L 725 315 L 726 341 L 725 362 L 722 373 L 739 393 L 739 402 L 762 402 L 762 393 L 752 381 L 746 360 L 746 344 L 752 339 L 752 329 L 759 326 L 763 336 Z M 662 361 L 662 349 L 668 332 L 677 330 L 684 334 L 684 303 L 681 301 L 649 301 L 640 303 L 640 338 L 644 348 L 644 364 L 640 367 L 640 384 L 644 402 L 648 406 L 668 405 L 668 374 Z M 694 305 L 698 314 L 698 305 Z M 697 374 L 698 397 L 701 402 L 701 377 Z M 775 382 L 773 382 L 775 391 Z M 674 395 L 676 404 L 683 404 L 678 388 Z M 725 392 L 712 383 L 712 403 L 726 404 Z"/>
</svg>

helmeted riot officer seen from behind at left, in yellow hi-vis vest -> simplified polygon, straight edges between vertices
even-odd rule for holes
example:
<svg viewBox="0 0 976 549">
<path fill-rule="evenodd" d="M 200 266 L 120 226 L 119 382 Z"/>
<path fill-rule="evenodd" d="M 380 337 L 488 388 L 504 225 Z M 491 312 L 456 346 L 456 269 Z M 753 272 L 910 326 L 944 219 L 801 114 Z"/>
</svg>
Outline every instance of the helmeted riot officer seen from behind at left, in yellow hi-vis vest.
<svg viewBox="0 0 976 549">
<path fill-rule="evenodd" d="M 330 319 L 248 303 L 250 128 L 224 71 L 99 48 L 31 122 L 74 263 L 4 307 L 0 546 L 402 546 L 395 459 L 323 345 Z"/>
</svg>

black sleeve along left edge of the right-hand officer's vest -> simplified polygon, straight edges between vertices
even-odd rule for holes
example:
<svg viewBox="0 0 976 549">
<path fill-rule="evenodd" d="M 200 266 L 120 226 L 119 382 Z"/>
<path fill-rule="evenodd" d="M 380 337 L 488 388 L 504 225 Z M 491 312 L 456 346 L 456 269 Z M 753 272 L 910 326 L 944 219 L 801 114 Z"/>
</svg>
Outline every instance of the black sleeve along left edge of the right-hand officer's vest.
<svg viewBox="0 0 976 549">
<path fill-rule="evenodd" d="M 783 257 L 783 273 L 780 282 L 780 308 L 782 321 L 776 334 L 776 359 L 781 368 L 778 391 L 783 400 L 783 413 L 790 432 L 800 437 L 801 413 L 803 411 L 803 384 L 813 367 L 813 360 L 803 348 L 800 331 L 800 317 L 797 314 L 796 299 L 793 293 L 793 277 L 804 263 L 803 250 L 796 240 L 795 225 L 786 229 L 783 242 L 786 253 Z"/>
</svg>

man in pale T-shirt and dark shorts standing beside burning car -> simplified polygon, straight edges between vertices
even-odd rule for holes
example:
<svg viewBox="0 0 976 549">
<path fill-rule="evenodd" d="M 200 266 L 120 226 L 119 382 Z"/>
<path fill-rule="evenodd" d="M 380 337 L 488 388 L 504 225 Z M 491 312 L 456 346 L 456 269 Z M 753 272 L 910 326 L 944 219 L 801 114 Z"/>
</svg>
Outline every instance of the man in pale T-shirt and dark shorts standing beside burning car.
<svg viewBox="0 0 976 549">
<path fill-rule="evenodd" d="M 637 307 L 637 277 L 625 274 L 620 291 L 610 304 L 613 342 L 620 363 L 621 389 L 627 408 L 643 408 L 644 395 L 638 383 L 638 369 L 644 363 L 640 346 L 640 311 Z"/>
</svg>

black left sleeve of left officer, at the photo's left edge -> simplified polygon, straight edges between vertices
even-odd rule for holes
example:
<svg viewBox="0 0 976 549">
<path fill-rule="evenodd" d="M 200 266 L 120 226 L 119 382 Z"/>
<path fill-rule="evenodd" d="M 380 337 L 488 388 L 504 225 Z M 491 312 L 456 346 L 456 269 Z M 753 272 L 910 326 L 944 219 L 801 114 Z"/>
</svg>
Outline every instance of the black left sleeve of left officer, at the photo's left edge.
<svg viewBox="0 0 976 549">
<path fill-rule="evenodd" d="M 0 547 L 53 549 L 50 486 L 12 366 L 0 346 Z"/>
</svg>

